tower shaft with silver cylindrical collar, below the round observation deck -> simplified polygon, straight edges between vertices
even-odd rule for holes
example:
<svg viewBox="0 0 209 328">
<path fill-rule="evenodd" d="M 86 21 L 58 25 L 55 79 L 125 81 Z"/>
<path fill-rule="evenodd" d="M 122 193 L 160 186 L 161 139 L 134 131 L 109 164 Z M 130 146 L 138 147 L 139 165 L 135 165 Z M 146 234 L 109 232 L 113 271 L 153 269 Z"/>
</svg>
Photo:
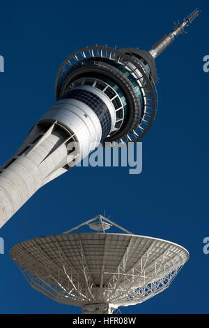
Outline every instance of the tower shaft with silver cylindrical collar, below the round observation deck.
<svg viewBox="0 0 209 328">
<path fill-rule="evenodd" d="M 115 120 L 109 98 L 89 86 L 75 87 L 56 101 L 15 155 L 1 166 L 0 227 L 40 187 L 94 150 Z"/>
</svg>

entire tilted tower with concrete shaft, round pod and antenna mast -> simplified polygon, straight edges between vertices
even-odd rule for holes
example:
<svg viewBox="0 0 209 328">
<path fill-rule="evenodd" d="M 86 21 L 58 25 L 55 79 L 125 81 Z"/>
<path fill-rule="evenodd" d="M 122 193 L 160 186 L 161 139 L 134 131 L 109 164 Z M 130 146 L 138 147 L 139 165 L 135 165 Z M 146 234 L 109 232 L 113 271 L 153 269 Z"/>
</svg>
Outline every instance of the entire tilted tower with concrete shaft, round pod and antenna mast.
<svg viewBox="0 0 209 328">
<path fill-rule="evenodd" d="M 100 143 L 139 141 L 155 118 L 155 57 L 199 15 L 194 10 L 147 52 L 92 46 L 78 50 L 56 76 L 56 102 L 0 169 L 0 227 L 43 185 Z"/>
</svg>

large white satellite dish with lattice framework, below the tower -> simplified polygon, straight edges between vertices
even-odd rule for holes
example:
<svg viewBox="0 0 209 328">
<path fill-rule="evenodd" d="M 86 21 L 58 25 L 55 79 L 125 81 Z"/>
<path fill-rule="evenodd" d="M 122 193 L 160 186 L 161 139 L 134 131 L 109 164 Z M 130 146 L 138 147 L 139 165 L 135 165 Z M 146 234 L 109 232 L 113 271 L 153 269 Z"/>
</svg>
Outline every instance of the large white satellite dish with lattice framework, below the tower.
<svg viewBox="0 0 209 328">
<path fill-rule="evenodd" d="M 74 232 L 84 225 L 96 232 Z M 107 233 L 111 227 L 123 233 Z M 19 243 L 10 257 L 42 294 L 81 306 L 83 314 L 104 314 L 166 290 L 189 253 L 176 243 L 132 234 L 98 215 L 63 234 Z"/>
</svg>

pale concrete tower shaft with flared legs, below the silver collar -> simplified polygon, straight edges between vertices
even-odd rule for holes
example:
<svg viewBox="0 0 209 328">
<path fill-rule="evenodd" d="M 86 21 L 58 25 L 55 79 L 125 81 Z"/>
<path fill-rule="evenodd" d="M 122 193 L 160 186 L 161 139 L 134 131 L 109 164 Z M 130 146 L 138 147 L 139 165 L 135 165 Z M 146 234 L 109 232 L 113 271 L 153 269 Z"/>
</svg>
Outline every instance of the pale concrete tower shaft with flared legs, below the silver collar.
<svg viewBox="0 0 209 328">
<path fill-rule="evenodd" d="M 36 131 L 38 127 L 35 127 Z M 67 158 L 63 136 L 52 124 L 47 132 L 34 130 L 16 154 L 1 167 L 0 227 L 45 183 L 60 175 L 59 162 Z M 49 156 L 49 153 L 51 155 Z"/>
</svg>

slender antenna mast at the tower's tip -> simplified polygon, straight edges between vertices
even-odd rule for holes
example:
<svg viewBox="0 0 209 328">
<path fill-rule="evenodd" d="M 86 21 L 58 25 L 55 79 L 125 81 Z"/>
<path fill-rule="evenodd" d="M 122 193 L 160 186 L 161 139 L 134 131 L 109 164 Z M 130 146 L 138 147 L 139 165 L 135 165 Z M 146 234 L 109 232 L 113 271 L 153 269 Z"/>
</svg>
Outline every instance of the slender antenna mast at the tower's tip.
<svg viewBox="0 0 209 328">
<path fill-rule="evenodd" d="M 155 45 L 153 45 L 152 48 L 150 48 L 149 52 L 150 55 L 152 55 L 154 58 L 159 56 L 161 52 L 163 52 L 171 43 L 173 43 L 174 38 L 178 36 L 179 34 L 182 34 L 185 31 L 185 27 L 187 27 L 189 24 L 191 24 L 200 13 L 200 10 L 196 8 L 192 13 L 190 13 L 189 16 L 185 17 L 183 20 L 183 23 L 178 23 L 173 28 L 173 30 L 170 33 L 165 34 L 160 41 L 157 41 Z"/>
</svg>

